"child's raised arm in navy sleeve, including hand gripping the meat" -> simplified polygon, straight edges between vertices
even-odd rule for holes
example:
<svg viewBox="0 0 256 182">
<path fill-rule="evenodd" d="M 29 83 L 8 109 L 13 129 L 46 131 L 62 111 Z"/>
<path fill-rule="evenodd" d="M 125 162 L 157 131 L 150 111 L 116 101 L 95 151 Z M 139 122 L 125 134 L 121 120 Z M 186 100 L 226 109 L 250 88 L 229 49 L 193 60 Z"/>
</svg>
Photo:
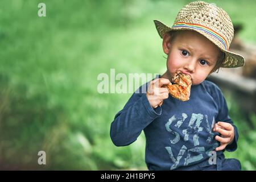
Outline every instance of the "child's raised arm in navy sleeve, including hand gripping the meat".
<svg viewBox="0 0 256 182">
<path fill-rule="evenodd" d="M 142 130 L 161 114 L 162 108 L 157 106 L 168 98 L 168 89 L 160 87 L 169 83 L 165 78 L 152 80 L 147 90 L 151 93 L 149 99 L 148 94 L 134 93 L 125 107 L 115 115 L 110 127 L 110 137 L 116 146 L 133 143 Z"/>
</svg>

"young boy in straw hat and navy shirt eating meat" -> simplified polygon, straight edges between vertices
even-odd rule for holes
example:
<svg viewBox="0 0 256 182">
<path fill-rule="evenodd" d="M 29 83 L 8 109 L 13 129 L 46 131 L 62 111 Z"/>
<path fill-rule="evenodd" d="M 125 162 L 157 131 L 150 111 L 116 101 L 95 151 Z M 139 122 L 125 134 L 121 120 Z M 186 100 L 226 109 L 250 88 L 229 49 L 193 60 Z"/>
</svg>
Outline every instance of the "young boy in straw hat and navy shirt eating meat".
<svg viewBox="0 0 256 182">
<path fill-rule="evenodd" d="M 228 14 L 196 1 L 180 10 L 172 27 L 154 22 L 163 38 L 167 71 L 147 83 L 146 93 L 134 93 L 115 115 L 113 143 L 127 146 L 143 130 L 150 170 L 241 170 L 237 159 L 224 156 L 225 150 L 237 148 L 237 127 L 221 90 L 205 80 L 220 67 L 245 64 L 242 56 L 228 51 L 234 35 Z M 170 97 L 163 87 L 177 71 L 192 78 L 188 101 Z"/>
</svg>

